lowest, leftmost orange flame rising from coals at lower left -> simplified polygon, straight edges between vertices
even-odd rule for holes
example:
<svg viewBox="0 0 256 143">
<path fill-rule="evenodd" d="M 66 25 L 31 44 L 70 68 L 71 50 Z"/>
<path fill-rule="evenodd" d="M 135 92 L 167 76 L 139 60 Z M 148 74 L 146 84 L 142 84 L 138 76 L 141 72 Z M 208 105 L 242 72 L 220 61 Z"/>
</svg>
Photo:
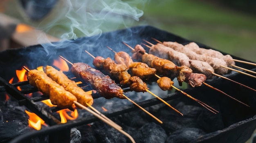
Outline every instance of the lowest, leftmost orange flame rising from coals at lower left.
<svg viewBox="0 0 256 143">
<path fill-rule="evenodd" d="M 42 125 L 47 126 L 45 124 L 45 121 L 40 117 L 38 117 L 38 115 L 36 115 L 35 113 L 31 113 L 27 110 L 25 110 L 25 112 L 27 113 L 27 115 L 29 115 L 29 119 L 28 119 L 29 127 L 32 127 L 36 130 L 40 130 Z"/>
</svg>

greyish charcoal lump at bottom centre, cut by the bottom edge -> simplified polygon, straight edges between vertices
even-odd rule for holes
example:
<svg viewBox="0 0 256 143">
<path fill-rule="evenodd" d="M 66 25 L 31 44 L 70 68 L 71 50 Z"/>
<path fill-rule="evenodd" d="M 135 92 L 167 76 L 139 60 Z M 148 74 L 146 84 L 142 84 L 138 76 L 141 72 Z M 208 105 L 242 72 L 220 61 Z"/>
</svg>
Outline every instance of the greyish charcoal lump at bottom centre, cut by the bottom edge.
<svg viewBox="0 0 256 143">
<path fill-rule="evenodd" d="M 136 143 L 164 143 L 167 135 L 164 129 L 154 122 L 144 124 L 134 132 L 129 132 Z"/>
</svg>

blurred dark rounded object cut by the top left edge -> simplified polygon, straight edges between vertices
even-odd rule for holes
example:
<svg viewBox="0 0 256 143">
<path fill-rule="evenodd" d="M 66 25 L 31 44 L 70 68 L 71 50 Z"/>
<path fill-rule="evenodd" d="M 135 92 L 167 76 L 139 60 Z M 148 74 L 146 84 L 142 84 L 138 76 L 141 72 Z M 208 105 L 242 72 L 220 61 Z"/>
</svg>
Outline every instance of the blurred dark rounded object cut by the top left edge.
<svg viewBox="0 0 256 143">
<path fill-rule="evenodd" d="M 58 0 L 19 0 L 26 15 L 31 20 L 40 20 L 55 6 Z"/>
</svg>

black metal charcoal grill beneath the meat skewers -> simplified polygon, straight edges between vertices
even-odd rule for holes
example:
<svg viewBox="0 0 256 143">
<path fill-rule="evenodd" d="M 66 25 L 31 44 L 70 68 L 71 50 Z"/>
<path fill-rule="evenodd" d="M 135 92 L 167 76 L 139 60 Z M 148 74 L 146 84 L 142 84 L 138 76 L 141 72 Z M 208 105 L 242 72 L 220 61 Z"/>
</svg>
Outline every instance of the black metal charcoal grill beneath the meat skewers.
<svg viewBox="0 0 256 143">
<path fill-rule="evenodd" d="M 22 91 L 18 91 L 16 89 L 17 86 L 29 86 L 28 82 L 18 82 L 13 84 L 9 84 L 7 82 L 10 78 L 15 76 L 16 69 L 20 69 L 23 65 L 26 65 L 30 69 L 35 69 L 38 66 L 52 65 L 53 60 L 57 59 L 58 55 L 67 58 L 72 63 L 83 62 L 88 63 L 93 67 L 93 59 L 88 56 L 88 54 L 86 54 L 84 50 L 87 50 L 94 56 L 113 58 L 113 52 L 108 50 L 106 46 L 109 46 L 117 52 L 125 51 L 131 54 L 130 49 L 122 44 L 121 41 L 124 41 L 131 46 L 135 46 L 136 44 L 141 43 L 143 39 L 155 43 L 155 41 L 153 41 L 151 37 L 154 37 L 160 41 L 177 41 L 178 43 L 182 44 L 191 42 L 190 40 L 184 39 L 177 35 L 173 35 L 169 32 L 157 29 L 152 26 L 136 26 L 128 29 L 117 30 L 114 32 L 106 32 L 101 35 L 96 35 L 92 37 L 82 37 L 75 40 L 65 40 L 52 44 L 33 45 L 26 48 L 11 49 L 0 52 L 0 95 L 3 94 L 3 91 L 7 91 L 7 93 L 13 96 L 17 100 L 17 102 L 19 102 L 20 106 L 26 106 L 30 111 L 36 113 L 38 116 L 44 119 L 47 124 L 50 125 L 49 127 L 41 129 L 39 131 L 21 134 L 19 137 L 14 139 L 13 142 L 26 141 L 31 137 L 36 137 L 42 134 L 49 134 L 49 142 L 69 142 L 69 137 L 67 134 L 69 134 L 72 127 L 98 121 L 98 119 L 93 115 L 88 115 L 86 117 L 81 117 L 76 120 L 68 121 L 66 124 L 60 124 L 60 121 L 56 119 L 54 115 L 52 115 L 53 112 L 59 110 L 58 107 L 49 108 L 42 107 L 41 105 L 39 106 L 37 104 L 38 101 L 47 99 L 47 97 L 41 95 L 33 98 L 28 98 L 27 96 L 25 96 L 25 94 L 35 92 L 35 88 L 27 87 Z M 202 48 L 211 48 L 202 43 L 198 43 L 198 45 Z M 236 56 L 232 57 L 247 61 Z M 256 71 L 256 67 L 252 65 L 246 65 L 243 63 L 236 63 L 236 65 Z M 70 72 L 65 72 L 65 74 L 69 77 L 73 76 Z M 248 76 L 238 74 L 233 71 L 229 72 L 225 76 L 242 84 L 248 85 L 253 89 L 256 89 L 255 78 L 250 78 Z M 224 91 L 225 93 L 233 96 L 234 98 L 248 104 L 250 107 L 244 106 L 243 104 L 231 100 L 225 95 L 222 95 L 221 93 L 218 93 L 204 85 L 202 85 L 202 87 L 188 87 L 187 89 L 184 89 L 186 93 L 193 95 L 193 97 L 209 104 L 210 106 L 218 107 L 218 110 L 220 111 L 220 113 L 218 114 L 221 114 L 223 123 L 225 125 L 225 127 L 221 130 L 209 132 L 204 136 L 198 138 L 198 140 L 195 142 L 214 143 L 217 141 L 221 141 L 238 143 L 247 141 L 247 139 L 249 139 L 249 137 L 252 135 L 252 132 L 256 128 L 256 116 L 254 116 L 256 115 L 256 92 L 221 78 L 210 79 L 206 82 L 209 85 L 212 85 L 213 87 L 216 87 Z M 83 84 L 84 85 L 81 85 L 82 87 L 86 85 L 86 83 Z M 157 85 L 155 85 L 155 82 L 151 81 L 148 81 L 148 85 L 150 86 L 150 89 L 153 89 L 153 87 L 157 87 Z M 84 88 L 84 90 L 90 90 L 90 87 L 86 87 Z M 183 98 L 184 95 L 182 95 L 180 92 L 162 92 L 160 90 L 161 89 L 157 89 L 155 90 L 155 92 L 159 93 L 159 97 L 165 101 L 171 101 L 182 97 L 182 100 L 186 102 L 193 102 L 187 100 L 186 98 Z M 145 94 L 146 93 L 128 92 L 127 96 L 129 96 L 132 100 L 137 102 L 142 107 L 150 107 L 161 103 L 155 98 L 137 98 L 138 96 L 149 96 Z M 105 115 L 108 117 L 115 117 L 117 115 L 138 110 L 136 106 L 132 105 L 131 103 L 124 102 L 121 99 L 113 98 L 110 100 L 106 100 L 100 97 L 97 93 L 94 94 L 93 97 L 93 106 L 96 108 L 104 106 L 101 100 L 103 100 L 103 102 L 115 103 L 112 104 L 109 107 L 109 110 L 105 113 Z M 66 137 L 64 137 L 63 134 L 66 134 Z"/>
</svg>

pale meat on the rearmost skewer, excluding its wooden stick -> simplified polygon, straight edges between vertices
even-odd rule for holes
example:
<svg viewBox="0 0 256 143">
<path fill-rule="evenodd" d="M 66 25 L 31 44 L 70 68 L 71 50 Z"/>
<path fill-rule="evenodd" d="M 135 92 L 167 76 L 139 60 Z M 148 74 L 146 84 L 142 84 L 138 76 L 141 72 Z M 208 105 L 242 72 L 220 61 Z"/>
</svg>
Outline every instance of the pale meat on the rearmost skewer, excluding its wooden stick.
<svg viewBox="0 0 256 143">
<path fill-rule="evenodd" d="M 190 42 L 184 46 L 196 52 L 197 54 L 202 54 L 202 55 L 211 56 L 215 58 L 221 58 L 227 63 L 228 67 L 232 67 L 232 65 L 235 65 L 234 59 L 229 54 L 223 55 L 221 52 L 216 50 L 200 48 L 198 44 L 196 44 L 195 42 Z"/>
</svg>

